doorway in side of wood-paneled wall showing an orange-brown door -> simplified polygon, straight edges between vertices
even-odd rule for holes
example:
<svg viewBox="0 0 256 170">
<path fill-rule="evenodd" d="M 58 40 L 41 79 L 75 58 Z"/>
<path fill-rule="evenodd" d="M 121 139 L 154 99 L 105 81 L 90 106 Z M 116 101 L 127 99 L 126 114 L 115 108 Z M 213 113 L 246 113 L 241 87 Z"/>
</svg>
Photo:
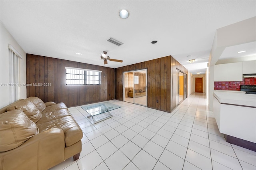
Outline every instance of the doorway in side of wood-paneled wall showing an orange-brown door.
<svg viewBox="0 0 256 170">
<path fill-rule="evenodd" d="M 176 69 L 176 106 L 187 97 L 187 74 Z"/>
</svg>

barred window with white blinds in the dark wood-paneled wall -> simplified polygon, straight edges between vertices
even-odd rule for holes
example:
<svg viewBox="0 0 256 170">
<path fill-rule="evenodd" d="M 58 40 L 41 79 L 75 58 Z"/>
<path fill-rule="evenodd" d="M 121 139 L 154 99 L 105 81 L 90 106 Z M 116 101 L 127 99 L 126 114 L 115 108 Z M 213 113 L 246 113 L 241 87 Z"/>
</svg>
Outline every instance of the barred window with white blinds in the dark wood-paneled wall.
<svg viewBox="0 0 256 170">
<path fill-rule="evenodd" d="M 66 67 L 66 85 L 101 85 L 101 71 Z"/>
</svg>

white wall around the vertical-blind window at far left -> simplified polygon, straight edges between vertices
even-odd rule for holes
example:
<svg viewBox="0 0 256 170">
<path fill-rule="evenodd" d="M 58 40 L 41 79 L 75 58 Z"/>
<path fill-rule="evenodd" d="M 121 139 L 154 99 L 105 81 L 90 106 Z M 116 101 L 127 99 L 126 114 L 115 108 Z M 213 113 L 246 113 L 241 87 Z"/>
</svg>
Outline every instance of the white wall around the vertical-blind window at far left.
<svg viewBox="0 0 256 170">
<path fill-rule="evenodd" d="M 8 45 L 12 45 L 21 55 L 20 58 L 20 83 L 26 83 L 26 53 L 20 47 L 20 45 L 14 40 L 12 35 L 6 30 L 4 25 L 1 22 L 0 27 L 0 37 L 1 37 L 1 46 L 0 46 L 0 108 L 9 105 L 10 99 L 10 88 L 8 86 L 3 86 L 4 83 L 9 83 L 9 49 Z M 26 86 L 19 87 L 19 99 L 25 99 L 27 97 Z"/>
</svg>

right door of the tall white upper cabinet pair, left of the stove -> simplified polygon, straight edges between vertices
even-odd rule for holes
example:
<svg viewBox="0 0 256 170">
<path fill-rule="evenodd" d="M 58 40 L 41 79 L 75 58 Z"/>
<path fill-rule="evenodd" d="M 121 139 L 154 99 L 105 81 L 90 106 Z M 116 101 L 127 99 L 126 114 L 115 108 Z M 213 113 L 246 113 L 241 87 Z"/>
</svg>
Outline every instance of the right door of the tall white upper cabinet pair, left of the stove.
<svg viewBox="0 0 256 170">
<path fill-rule="evenodd" d="M 243 63 L 227 63 L 227 81 L 243 81 Z"/>
</svg>

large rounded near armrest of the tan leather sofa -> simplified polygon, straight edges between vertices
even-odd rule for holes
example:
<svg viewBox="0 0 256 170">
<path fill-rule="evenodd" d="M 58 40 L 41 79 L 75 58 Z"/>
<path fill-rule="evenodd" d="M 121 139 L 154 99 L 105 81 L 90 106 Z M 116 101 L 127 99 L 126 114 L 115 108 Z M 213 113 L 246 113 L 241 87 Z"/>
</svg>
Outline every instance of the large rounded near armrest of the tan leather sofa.
<svg viewBox="0 0 256 170">
<path fill-rule="evenodd" d="M 46 170 L 64 161 L 64 149 L 63 130 L 52 128 L 34 135 L 17 148 L 1 152 L 0 166 L 8 170 Z"/>
</svg>

